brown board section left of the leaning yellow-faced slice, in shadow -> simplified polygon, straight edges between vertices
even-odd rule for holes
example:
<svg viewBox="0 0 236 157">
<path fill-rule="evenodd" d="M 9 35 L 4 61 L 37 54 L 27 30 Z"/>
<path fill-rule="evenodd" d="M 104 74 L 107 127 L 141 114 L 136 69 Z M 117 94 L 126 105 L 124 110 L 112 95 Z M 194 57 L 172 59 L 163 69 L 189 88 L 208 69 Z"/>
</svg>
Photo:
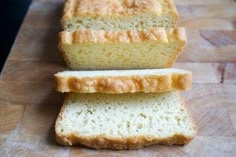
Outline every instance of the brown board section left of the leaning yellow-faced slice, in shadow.
<svg viewBox="0 0 236 157">
<path fill-rule="evenodd" d="M 10 60 L 62 61 L 57 49 L 58 28 L 22 26 L 9 54 Z M 49 44 L 48 44 L 49 43 Z"/>
</svg>

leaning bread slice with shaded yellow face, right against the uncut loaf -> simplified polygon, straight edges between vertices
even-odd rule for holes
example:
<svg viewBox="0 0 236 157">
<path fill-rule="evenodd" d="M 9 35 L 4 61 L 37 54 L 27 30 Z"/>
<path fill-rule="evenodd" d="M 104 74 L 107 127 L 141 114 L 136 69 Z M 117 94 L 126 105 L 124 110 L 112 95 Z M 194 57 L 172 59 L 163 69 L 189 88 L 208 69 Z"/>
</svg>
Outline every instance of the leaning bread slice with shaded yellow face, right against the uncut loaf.
<svg viewBox="0 0 236 157">
<path fill-rule="evenodd" d="M 184 28 L 63 31 L 59 49 L 74 70 L 171 67 L 186 43 Z"/>
</svg>

